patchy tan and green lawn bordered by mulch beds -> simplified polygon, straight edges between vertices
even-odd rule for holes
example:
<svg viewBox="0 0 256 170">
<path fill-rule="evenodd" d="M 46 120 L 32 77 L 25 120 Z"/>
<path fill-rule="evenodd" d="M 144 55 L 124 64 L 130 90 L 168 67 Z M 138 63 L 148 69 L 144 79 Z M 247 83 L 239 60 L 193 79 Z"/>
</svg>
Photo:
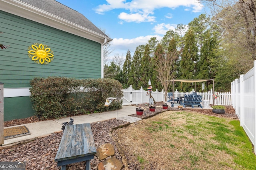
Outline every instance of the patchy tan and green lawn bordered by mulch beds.
<svg viewBox="0 0 256 170">
<path fill-rule="evenodd" d="M 166 111 L 113 135 L 141 169 L 256 169 L 252 143 L 233 119 Z"/>
</svg>

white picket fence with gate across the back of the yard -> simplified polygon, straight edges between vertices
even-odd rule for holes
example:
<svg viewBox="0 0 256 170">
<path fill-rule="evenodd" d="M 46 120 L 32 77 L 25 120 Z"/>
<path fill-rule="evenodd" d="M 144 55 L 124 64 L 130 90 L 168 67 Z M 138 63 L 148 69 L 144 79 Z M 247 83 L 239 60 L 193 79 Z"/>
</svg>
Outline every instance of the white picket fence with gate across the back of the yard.
<svg viewBox="0 0 256 170">
<path fill-rule="evenodd" d="M 126 88 L 123 90 L 124 97 L 123 97 L 123 104 L 122 106 L 131 105 L 131 104 L 143 104 L 149 102 L 149 96 L 148 91 L 145 91 L 140 88 L 140 90 L 134 90 L 132 86 L 129 88 Z M 178 90 L 174 91 L 174 98 L 179 98 L 180 96 L 191 94 L 192 92 L 195 92 L 192 90 L 191 92 L 178 92 Z M 231 105 L 231 92 L 225 92 L 225 93 L 218 93 L 220 95 L 220 98 L 213 99 L 212 95 L 214 94 L 212 92 L 212 89 L 208 92 L 196 92 L 197 94 L 201 95 L 203 97 L 203 100 L 209 100 L 210 104 L 218 104 L 218 105 Z M 215 92 L 216 93 L 216 92 Z M 162 102 L 164 101 L 164 91 L 158 92 L 157 90 L 155 92 L 151 92 L 151 95 L 153 96 L 154 100 L 156 102 Z"/>
</svg>

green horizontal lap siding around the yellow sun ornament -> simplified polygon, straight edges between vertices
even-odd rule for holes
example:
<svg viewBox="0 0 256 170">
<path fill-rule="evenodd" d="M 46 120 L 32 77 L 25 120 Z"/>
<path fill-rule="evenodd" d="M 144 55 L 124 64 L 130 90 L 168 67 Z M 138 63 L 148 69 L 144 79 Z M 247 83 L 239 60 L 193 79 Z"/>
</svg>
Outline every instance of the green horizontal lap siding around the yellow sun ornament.
<svg viewBox="0 0 256 170">
<path fill-rule="evenodd" d="M 100 43 L 0 11 L 0 82 L 4 88 L 30 87 L 34 77 L 65 76 L 78 79 L 101 77 Z M 47 45 L 54 53 L 49 64 L 28 57 L 34 43 Z M 6 109 L 5 109 L 6 110 Z"/>
</svg>

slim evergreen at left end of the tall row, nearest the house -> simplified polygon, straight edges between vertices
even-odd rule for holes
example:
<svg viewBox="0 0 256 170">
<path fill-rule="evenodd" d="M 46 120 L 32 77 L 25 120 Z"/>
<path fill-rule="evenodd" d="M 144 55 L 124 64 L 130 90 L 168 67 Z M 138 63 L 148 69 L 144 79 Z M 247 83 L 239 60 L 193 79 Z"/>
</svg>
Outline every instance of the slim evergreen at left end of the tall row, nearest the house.
<svg viewBox="0 0 256 170">
<path fill-rule="evenodd" d="M 123 65 L 123 76 L 124 76 L 124 84 L 123 88 L 128 88 L 130 84 L 128 84 L 129 72 L 131 72 L 131 64 L 132 64 L 132 57 L 130 50 L 126 53 L 126 59 Z"/>
</svg>

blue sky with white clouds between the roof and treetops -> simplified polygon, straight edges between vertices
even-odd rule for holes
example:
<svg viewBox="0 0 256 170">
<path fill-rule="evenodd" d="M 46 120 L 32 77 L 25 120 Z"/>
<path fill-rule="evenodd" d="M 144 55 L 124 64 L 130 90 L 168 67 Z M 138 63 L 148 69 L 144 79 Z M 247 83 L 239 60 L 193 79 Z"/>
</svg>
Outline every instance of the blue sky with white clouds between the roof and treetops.
<svg viewBox="0 0 256 170">
<path fill-rule="evenodd" d="M 119 54 L 131 55 L 151 37 L 161 40 L 177 24 L 187 25 L 206 8 L 197 0 L 56 0 L 83 14 L 112 41 L 114 51 L 110 59 Z"/>
</svg>

